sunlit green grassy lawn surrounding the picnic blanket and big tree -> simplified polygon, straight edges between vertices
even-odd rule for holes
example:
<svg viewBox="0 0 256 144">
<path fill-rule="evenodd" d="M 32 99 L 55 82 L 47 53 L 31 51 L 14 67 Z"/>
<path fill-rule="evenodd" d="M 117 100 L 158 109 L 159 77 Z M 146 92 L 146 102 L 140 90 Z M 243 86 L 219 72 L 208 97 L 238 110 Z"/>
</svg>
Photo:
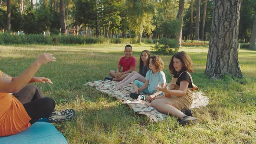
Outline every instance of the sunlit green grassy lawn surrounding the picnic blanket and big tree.
<svg viewBox="0 0 256 144">
<path fill-rule="evenodd" d="M 115 70 L 118 60 L 124 56 L 124 46 L 0 46 L 0 70 L 16 76 L 40 54 L 54 54 L 56 62 L 47 63 L 36 73 L 36 76 L 51 79 L 53 85 L 36 85 L 47 97 L 56 100 L 57 110 L 75 109 L 76 116 L 72 121 L 55 123 L 71 144 L 256 143 L 256 51 L 239 51 L 243 79 L 225 76 L 212 80 L 203 75 L 208 49 L 182 49 L 192 58 L 194 83 L 210 98 L 210 104 L 193 109 L 198 124 L 181 127 L 172 116 L 162 122 L 149 122 L 146 116 L 137 115 L 127 105 L 121 105 L 121 101 L 84 86 L 87 82 L 102 80 L 109 70 Z M 142 50 L 151 49 L 151 45 L 132 46 L 137 62 Z M 170 82 L 167 67 L 171 56 L 161 58 L 167 82 Z"/>
</svg>

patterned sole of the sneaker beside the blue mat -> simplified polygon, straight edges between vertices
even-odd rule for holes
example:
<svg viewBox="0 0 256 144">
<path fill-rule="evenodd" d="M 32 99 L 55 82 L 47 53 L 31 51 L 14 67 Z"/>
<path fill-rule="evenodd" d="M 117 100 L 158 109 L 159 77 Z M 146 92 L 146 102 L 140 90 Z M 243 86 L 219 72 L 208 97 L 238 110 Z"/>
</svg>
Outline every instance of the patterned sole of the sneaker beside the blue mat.
<svg viewBox="0 0 256 144">
<path fill-rule="evenodd" d="M 75 116 L 75 110 L 73 110 L 71 108 L 70 109 L 65 109 L 63 111 L 60 111 L 60 114 L 61 115 L 58 115 L 58 116 L 65 116 L 66 115 L 66 118 L 52 118 L 53 116 L 55 116 L 54 112 L 53 112 L 53 114 L 50 115 L 47 118 L 47 121 L 50 122 L 50 123 L 58 122 L 58 121 L 69 121 L 69 120 L 71 120 Z"/>
</svg>

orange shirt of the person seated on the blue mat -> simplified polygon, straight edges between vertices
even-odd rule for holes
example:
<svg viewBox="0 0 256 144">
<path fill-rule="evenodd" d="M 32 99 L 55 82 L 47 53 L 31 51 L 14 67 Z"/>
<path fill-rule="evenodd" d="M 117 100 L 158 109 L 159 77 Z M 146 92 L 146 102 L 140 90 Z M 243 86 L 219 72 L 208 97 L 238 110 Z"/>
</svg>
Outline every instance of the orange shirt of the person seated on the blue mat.
<svg viewBox="0 0 256 144">
<path fill-rule="evenodd" d="M 0 76 L 2 72 L 0 71 Z M 0 137 L 17 134 L 30 127 L 30 116 L 10 93 L 0 92 Z"/>
</svg>

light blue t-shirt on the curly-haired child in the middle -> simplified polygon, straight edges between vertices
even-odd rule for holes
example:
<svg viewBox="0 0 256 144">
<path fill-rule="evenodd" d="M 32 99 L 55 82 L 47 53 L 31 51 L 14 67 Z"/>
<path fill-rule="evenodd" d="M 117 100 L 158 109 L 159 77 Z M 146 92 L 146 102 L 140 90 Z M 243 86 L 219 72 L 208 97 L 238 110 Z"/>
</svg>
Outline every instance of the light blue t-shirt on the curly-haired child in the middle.
<svg viewBox="0 0 256 144">
<path fill-rule="evenodd" d="M 146 74 L 146 80 L 149 81 L 148 91 L 151 93 L 156 91 L 156 86 L 160 87 L 162 83 L 166 83 L 165 74 L 163 71 L 153 74 L 152 70 L 149 70 Z"/>
</svg>

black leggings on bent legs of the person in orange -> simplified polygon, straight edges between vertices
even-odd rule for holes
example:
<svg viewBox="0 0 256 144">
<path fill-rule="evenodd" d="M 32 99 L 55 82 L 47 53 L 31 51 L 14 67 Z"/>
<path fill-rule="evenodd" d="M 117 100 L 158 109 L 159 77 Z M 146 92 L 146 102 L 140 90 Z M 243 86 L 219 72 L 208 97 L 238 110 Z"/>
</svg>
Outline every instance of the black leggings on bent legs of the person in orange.
<svg viewBox="0 0 256 144">
<path fill-rule="evenodd" d="M 30 124 L 34 124 L 40 118 L 47 118 L 55 108 L 53 98 L 45 98 L 36 85 L 26 85 L 20 92 L 13 95 L 23 104 L 31 118 Z"/>
</svg>

